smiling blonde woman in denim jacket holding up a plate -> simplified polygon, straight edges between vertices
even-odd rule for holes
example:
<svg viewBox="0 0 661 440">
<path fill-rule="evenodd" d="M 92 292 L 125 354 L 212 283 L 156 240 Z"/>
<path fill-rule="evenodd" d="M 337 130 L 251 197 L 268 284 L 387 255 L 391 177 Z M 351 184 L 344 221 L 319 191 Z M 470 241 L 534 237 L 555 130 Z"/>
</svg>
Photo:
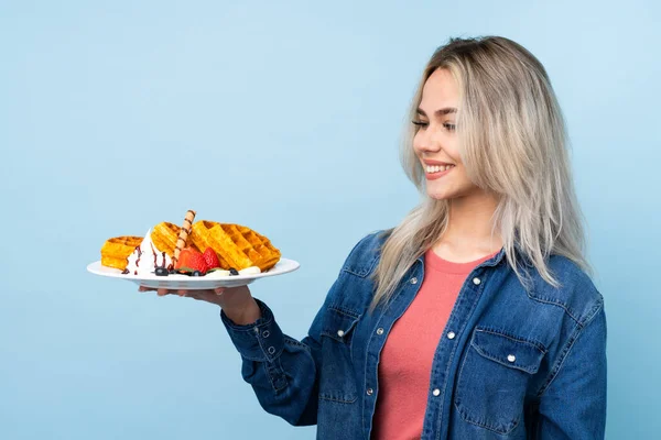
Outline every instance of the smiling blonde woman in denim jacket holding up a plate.
<svg viewBox="0 0 661 440">
<path fill-rule="evenodd" d="M 247 287 L 178 294 L 221 307 L 262 407 L 321 439 L 604 438 L 604 301 L 543 66 L 451 40 L 411 119 L 423 201 L 356 244 L 305 339 Z"/>
</svg>

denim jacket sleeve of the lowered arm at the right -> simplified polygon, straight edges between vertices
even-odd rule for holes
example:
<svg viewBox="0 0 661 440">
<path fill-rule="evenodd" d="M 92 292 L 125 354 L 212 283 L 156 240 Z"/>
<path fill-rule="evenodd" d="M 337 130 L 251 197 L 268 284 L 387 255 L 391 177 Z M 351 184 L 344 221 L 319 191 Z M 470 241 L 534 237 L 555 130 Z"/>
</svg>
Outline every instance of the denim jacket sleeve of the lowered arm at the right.
<svg viewBox="0 0 661 440">
<path fill-rule="evenodd" d="M 606 428 L 606 315 L 593 318 L 565 345 L 557 372 L 540 402 L 542 440 L 604 439 Z"/>
</svg>

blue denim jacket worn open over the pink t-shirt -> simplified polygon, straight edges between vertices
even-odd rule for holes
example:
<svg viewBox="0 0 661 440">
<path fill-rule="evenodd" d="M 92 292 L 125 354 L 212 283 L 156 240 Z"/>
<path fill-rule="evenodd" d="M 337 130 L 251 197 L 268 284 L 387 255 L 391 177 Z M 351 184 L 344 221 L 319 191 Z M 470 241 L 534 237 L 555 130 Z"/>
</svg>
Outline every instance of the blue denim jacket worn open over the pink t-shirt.
<svg viewBox="0 0 661 440">
<path fill-rule="evenodd" d="M 392 300 L 368 312 L 383 241 L 372 233 L 351 250 L 302 341 L 261 301 L 253 324 L 221 314 L 261 406 L 316 424 L 318 439 L 370 438 L 381 349 L 424 277 L 421 257 Z M 434 354 L 422 439 L 604 438 L 604 299 L 574 263 L 549 264 L 560 288 L 532 271 L 524 289 L 502 250 L 470 273 Z"/>
</svg>

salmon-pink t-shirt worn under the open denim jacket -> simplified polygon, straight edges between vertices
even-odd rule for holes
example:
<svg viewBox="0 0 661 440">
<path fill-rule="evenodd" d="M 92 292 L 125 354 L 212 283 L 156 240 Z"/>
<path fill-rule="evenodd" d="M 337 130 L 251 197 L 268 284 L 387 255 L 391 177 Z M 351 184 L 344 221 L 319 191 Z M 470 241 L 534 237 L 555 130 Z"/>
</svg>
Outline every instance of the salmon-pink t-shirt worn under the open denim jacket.
<svg viewBox="0 0 661 440">
<path fill-rule="evenodd" d="M 379 397 L 372 439 L 420 439 L 430 393 L 432 362 L 457 295 L 468 274 L 491 256 L 453 263 L 424 255 L 418 295 L 392 326 L 379 362 Z"/>
</svg>

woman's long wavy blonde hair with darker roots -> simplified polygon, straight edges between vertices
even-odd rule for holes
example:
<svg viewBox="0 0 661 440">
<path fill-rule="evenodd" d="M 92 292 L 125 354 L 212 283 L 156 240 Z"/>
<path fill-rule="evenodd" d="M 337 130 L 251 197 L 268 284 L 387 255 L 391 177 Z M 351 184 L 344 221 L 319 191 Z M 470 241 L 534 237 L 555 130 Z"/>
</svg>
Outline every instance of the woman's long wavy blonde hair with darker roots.
<svg viewBox="0 0 661 440">
<path fill-rule="evenodd" d="M 492 228 L 500 232 L 509 265 L 524 286 L 519 254 L 544 280 L 560 283 L 548 266 L 563 255 L 590 272 L 584 257 L 583 217 L 574 193 L 566 130 L 542 64 L 524 47 L 498 36 L 451 38 L 427 63 L 412 101 L 414 119 L 422 88 L 436 69 L 447 69 L 459 88 L 457 135 L 468 177 L 498 197 Z M 372 274 L 371 309 L 387 302 L 416 258 L 447 227 L 449 204 L 425 193 L 424 170 L 413 151 L 416 127 L 408 123 L 402 166 L 423 201 L 394 229 Z"/>
</svg>

